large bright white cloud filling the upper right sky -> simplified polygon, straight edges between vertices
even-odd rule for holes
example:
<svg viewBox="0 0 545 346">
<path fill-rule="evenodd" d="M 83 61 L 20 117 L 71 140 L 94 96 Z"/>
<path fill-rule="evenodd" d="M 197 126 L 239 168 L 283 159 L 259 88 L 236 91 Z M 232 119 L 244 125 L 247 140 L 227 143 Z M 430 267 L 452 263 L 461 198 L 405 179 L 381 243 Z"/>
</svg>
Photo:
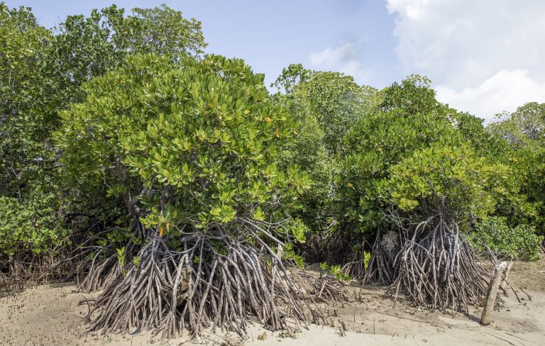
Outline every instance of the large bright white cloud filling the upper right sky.
<svg viewBox="0 0 545 346">
<path fill-rule="evenodd" d="M 441 101 L 488 119 L 545 102 L 545 1 L 388 0 L 387 9 L 404 73 L 426 74 Z"/>
</svg>

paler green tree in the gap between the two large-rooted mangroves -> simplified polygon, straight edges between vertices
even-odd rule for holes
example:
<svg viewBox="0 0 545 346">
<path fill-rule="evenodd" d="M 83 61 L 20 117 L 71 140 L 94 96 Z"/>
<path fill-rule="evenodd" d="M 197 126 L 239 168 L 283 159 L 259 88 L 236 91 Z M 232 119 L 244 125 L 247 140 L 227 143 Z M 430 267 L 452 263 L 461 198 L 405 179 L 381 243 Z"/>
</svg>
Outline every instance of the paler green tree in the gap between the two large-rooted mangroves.
<svg viewBox="0 0 545 346">
<path fill-rule="evenodd" d="M 298 134 L 282 151 L 282 164 L 298 164 L 312 179 L 311 188 L 301 196 L 302 208 L 295 215 L 310 231 L 304 249 L 307 258 L 321 259 L 324 252 L 336 252 L 331 242 L 326 246 L 322 242 L 336 233 L 335 155 L 346 130 L 373 108 L 377 91 L 358 86 L 342 73 L 311 71 L 302 65 L 285 68 L 272 86 L 283 91 L 275 98 L 287 106 L 299 124 Z"/>
</svg>

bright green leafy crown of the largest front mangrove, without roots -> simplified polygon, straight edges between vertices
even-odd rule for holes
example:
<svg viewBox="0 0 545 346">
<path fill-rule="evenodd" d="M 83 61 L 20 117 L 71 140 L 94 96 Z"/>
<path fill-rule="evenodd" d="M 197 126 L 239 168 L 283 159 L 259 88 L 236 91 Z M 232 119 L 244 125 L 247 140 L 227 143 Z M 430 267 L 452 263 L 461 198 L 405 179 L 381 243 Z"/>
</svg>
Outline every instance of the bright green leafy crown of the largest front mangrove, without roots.
<svg viewBox="0 0 545 346">
<path fill-rule="evenodd" d="M 242 60 L 141 55 L 84 88 L 87 101 L 63 113 L 70 122 L 57 134 L 66 172 L 106 181 L 111 194 L 135 196 L 146 186 L 141 221 L 163 233 L 180 223 L 285 217 L 309 185 L 298 167 L 277 167 L 293 121 Z M 176 214 L 160 204 L 165 194 Z"/>
</svg>

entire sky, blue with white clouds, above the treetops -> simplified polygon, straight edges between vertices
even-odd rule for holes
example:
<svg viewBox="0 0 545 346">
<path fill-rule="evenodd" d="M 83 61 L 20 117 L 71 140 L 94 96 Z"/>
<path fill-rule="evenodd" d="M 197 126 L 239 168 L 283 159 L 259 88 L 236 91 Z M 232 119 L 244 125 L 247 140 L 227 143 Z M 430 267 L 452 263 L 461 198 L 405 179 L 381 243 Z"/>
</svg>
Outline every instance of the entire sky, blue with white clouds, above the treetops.
<svg viewBox="0 0 545 346">
<path fill-rule="evenodd" d="M 378 88 L 425 74 L 440 101 L 489 121 L 545 102 L 544 0 L 6 1 L 48 27 L 112 2 L 199 19 L 209 52 L 245 59 L 268 83 L 300 62 Z"/>
</svg>

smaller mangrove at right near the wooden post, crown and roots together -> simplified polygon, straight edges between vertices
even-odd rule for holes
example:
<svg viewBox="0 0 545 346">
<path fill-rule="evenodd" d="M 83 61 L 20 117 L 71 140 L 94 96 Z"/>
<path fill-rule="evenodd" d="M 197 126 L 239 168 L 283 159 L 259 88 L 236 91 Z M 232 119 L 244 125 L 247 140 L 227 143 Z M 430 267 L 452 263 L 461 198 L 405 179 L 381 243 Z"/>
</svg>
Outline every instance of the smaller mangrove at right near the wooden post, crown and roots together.
<svg viewBox="0 0 545 346">
<path fill-rule="evenodd" d="M 467 144 L 441 143 L 390 169 L 385 191 L 392 208 L 385 216 L 402 241 L 385 272 L 395 277 L 396 296 L 404 292 L 419 305 L 466 313 L 483 303 L 487 275 L 462 235 L 475 218 L 493 211 L 490 189 L 504 172 L 505 167 L 488 165 Z"/>
</svg>

